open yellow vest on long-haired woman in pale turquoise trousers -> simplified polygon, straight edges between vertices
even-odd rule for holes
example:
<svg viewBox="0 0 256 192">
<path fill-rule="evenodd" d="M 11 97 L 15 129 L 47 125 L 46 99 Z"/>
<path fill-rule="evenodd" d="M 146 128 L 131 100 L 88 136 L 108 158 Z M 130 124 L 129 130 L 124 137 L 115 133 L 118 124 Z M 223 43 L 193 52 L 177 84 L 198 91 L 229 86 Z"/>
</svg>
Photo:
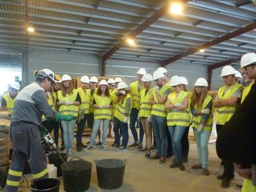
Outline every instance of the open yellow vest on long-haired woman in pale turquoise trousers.
<svg viewBox="0 0 256 192">
<path fill-rule="evenodd" d="M 211 102 L 211 100 L 212 100 L 212 97 L 210 95 L 207 95 L 202 104 L 202 109 L 205 109 L 207 104 L 209 104 L 209 102 Z M 197 104 L 194 106 L 194 109 L 196 111 L 199 110 Z M 211 109 L 211 114 L 209 115 L 209 118 L 203 127 L 204 131 L 212 131 L 212 124 L 213 124 L 213 115 L 212 114 L 213 114 L 213 108 Z M 192 127 L 193 128 L 198 129 L 199 125 L 201 124 L 201 118 L 202 118 L 202 115 L 193 115 L 193 117 L 192 117 Z"/>
</svg>

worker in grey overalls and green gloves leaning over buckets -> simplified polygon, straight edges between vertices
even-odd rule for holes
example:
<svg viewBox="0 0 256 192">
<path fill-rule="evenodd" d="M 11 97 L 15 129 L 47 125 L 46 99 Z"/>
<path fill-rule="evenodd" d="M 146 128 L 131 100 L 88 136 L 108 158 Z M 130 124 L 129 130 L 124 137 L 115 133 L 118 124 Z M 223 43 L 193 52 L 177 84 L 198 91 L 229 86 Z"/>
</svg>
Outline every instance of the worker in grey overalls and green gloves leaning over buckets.
<svg viewBox="0 0 256 192">
<path fill-rule="evenodd" d="M 4 191 L 18 191 L 24 165 L 28 161 L 34 180 L 48 177 L 46 158 L 41 144 L 38 125 L 42 115 L 49 120 L 73 120 L 72 115 L 61 115 L 47 104 L 45 91 L 54 83 L 54 73 L 45 68 L 35 72 L 36 82 L 18 93 L 10 125 L 10 140 L 13 142 L 12 164 Z"/>
</svg>

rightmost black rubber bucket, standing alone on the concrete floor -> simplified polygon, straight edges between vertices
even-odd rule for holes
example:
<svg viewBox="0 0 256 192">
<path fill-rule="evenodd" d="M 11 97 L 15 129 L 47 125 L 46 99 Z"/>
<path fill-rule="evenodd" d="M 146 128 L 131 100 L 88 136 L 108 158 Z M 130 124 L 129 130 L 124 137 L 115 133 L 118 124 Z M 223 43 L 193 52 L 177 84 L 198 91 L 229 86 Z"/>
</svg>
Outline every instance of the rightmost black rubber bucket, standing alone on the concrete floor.
<svg viewBox="0 0 256 192">
<path fill-rule="evenodd" d="M 97 166 L 97 178 L 100 188 L 117 189 L 122 186 L 127 159 L 95 159 L 94 162 Z"/>
</svg>

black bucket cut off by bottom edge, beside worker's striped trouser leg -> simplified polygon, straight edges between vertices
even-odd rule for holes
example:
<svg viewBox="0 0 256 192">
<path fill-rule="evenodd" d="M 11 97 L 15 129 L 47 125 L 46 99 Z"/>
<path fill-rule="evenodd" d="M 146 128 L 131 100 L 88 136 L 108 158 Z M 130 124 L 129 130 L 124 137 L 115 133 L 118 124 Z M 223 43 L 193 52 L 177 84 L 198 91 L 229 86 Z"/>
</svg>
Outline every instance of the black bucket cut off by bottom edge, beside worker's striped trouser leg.
<svg viewBox="0 0 256 192">
<path fill-rule="evenodd" d="M 47 192 L 59 192 L 60 180 L 58 179 L 41 179 L 35 180 L 30 186 L 32 192 L 47 191 Z"/>
</svg>

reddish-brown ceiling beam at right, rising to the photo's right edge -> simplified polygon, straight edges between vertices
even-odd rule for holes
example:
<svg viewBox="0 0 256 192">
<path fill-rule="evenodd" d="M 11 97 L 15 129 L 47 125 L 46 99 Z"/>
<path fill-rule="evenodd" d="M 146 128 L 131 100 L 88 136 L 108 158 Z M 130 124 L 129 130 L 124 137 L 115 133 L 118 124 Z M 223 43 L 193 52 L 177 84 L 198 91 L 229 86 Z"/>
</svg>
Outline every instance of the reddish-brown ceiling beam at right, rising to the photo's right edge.
<svg viewBox="0 0 256 192">
<path fill-rule="evenodd" d="M 248 26 L 245 26 L 244 28 L 237 29 L 236 31 L 233 31 L 231 33 L 228 33 L 226 35 L 221 36 L 220 38 L 216 38 L 210 42 L 207 42 L 206 44 L 198 45 L 195 48 L 189 49 L 188 51 L 182 52 L 180 54 L 177 54 L 173 56 L 172 58 L 169 58 L 167 60 L 162 61 L 161 65 L 164 67 L 170 63 L 173 63 L 174 61 L 180 60 L 181 58 L 184 58 L 186 56 L 189 56 L 190 54 L 194 54 L 195 52 L 198 52 L 200 49 L 207 49 L 208 47 L 211 47 L 216 44 L 220 44 L 221 42 L 224 42 L 225 40 L 228 40 L 230 38 L 234 38 L 235 36 L 241 35 L 243 33 L 246 33 L 248 31 L 251 31 L 252 29 L 256 28 L 256 22 L 253 22 L 252 24 L 249 24 Z"/>
</svg>

